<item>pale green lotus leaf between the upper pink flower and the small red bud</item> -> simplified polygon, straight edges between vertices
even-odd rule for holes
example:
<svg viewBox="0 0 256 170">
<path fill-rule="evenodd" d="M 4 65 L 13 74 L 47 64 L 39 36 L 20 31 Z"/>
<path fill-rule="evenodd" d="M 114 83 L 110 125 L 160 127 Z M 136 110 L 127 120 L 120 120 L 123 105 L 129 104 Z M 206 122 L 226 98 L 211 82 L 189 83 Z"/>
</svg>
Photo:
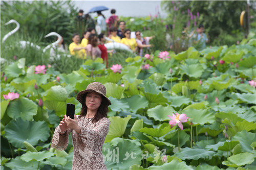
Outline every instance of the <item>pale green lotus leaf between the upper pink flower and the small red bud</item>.
<svg viewBox="0 0 256 170">
<path fill-rule="evenodd" d="M 204 71 L 201 64 L 180 65 L 180 69 L 183 74 L 194 78 L 201 77 Z"/>
</svg>

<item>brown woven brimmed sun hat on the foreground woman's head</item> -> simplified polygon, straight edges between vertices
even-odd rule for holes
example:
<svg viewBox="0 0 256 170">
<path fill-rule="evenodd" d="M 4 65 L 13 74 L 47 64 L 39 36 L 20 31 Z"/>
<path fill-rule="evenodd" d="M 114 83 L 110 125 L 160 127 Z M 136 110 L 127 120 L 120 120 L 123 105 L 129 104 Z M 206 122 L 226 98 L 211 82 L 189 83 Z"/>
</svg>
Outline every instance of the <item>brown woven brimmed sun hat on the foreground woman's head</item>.
<svg viewBox="0 0 256 170">
<path fill-rule="evenodd" d="M 103 96 L 103 98 L 106 101 L 106 104 L 109 106 L 111 105 L 111 102 L 108 98 L 106 98 L 106 88 L 103 84 L 99 83 L 99 82 L 94 82 L 89 84 L 86 87 L 86 90 L 80 91 L 77 96 L 76 99 L 78 100 L 78 102 L 80 102 L 83 105 L 83 99 L 85 98 L 86 93 L 88 92 L 97 92 L 99 94 L 101 94 Z"/>
</svg>

